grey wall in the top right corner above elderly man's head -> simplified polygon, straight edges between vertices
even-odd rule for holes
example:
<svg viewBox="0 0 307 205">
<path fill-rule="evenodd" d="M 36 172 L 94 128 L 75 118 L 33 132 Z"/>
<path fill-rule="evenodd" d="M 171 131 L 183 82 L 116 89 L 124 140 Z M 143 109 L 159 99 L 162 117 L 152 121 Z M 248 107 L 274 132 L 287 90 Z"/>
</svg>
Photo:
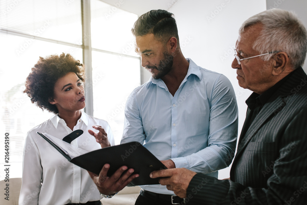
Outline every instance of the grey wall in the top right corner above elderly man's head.
<svg viewBox="0 0 307 205">
<path fill-rule="evenodd" d="M 287 11 L 294 11 L 297 16 L 301 19 L 305 27 L 307 28 L 307 1 L 306 0 L 266 0 L 266 8 L 278 8 L 284 9 Z M 305 63 L 303 65 L 303 69 L 305 73 L 307 73 L 307 60 L 305 59 Z"/>
</svg>

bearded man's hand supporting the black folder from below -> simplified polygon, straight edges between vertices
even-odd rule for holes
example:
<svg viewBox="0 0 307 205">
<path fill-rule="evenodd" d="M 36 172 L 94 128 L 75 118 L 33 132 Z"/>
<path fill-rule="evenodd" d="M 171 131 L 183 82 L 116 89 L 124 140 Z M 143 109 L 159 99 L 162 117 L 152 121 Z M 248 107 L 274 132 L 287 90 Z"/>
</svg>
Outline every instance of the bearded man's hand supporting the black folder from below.
<svg viewBox="0 0 307 205">
<path fill-rule="evenodd" d="M 138 174 L 131 175 L 134 169 L 126 171 L 127 167 L 122 166 L 112 176 L 108 177 L 107 172 L 109 168 L 110 164 L 103 165 L 99 175 L 88 171 L 98 190 L 104 195 L 114 195 L 126 187 L 134 178 L 139 176 Z M 126 173 L 122 174 L 124 171 Z"/>
</svg>

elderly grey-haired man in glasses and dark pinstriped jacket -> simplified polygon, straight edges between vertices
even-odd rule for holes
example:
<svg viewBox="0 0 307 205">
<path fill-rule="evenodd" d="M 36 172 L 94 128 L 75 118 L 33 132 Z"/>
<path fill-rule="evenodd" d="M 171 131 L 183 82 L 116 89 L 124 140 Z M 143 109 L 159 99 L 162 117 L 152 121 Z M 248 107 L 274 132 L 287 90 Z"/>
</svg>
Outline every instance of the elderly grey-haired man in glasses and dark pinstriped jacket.
<svg viewBox="0 0 307 205">
<path fill-rule="evenodd" d="M 243 23 L 231 67 L 253 91 L 230 179 L 181 169 L 151 177 L 188 204 L 306 204 L 306 29 L 291 12 L 272 9 Z"/>
</svg>

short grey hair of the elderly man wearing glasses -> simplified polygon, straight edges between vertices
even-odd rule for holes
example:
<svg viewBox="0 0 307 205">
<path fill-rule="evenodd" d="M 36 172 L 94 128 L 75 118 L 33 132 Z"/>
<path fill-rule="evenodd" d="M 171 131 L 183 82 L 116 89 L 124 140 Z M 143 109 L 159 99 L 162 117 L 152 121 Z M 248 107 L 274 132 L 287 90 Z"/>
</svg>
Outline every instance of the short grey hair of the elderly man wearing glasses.
<svg viewBox="0 0 307 205">
<path fill-rule="evenodd" d="M 281 9 L 270 9 L 247 19 L 239 29 L 261 23 L 263 29 L 254 42 L 253 49 L 260 53 L 284 51 L 288 54 L 293 69 L 302 66 L 307 52 L 307 32 L 297 15 Z M 274 53 L 261 56 L 268 61 Z"/>
</svg>

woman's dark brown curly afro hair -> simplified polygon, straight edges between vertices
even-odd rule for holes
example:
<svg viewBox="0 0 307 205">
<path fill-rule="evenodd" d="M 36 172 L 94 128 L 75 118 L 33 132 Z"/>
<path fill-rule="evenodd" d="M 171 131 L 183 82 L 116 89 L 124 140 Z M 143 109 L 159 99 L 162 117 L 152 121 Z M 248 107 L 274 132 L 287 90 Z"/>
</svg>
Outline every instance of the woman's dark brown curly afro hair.
<svg viewBox="0 0 307 205">
<path fill-rule="evenodd" d="M 85 81 L 83 64 L 75 60 L 70 54 L 62 53 L 50 55 L 46 58 L 40 57 L 32 68 L 25 82 L 24 93 L 31 98 L 31 102 L 42 110 L 48 110 L 57 114 L 59 111 L 49 101 L 54 97 L 54 86 L 56 81 L 67 73 L 74 72 L 81 81 Z"/>
</svg>

